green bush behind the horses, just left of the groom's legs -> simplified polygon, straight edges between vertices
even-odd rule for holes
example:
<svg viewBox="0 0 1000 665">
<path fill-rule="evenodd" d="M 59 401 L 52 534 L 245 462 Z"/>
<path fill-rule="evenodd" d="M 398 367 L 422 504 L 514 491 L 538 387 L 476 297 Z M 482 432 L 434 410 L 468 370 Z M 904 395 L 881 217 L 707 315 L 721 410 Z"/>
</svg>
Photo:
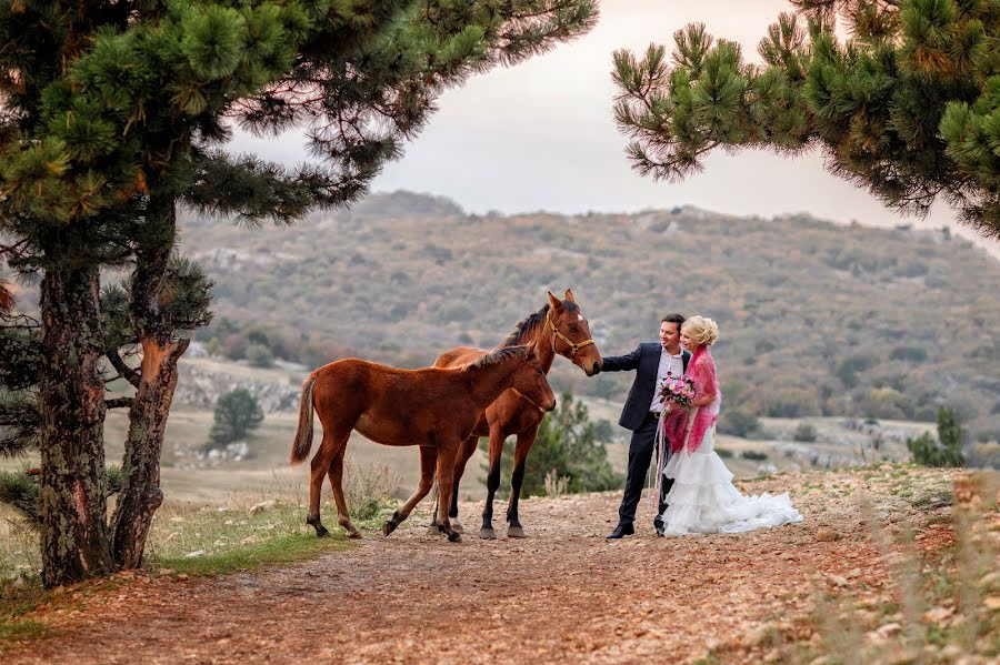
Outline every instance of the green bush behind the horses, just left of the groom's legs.
<svg viewBox="0 0 1000 665">
<path fill-rule="evenodd" d="M 598 425 L 590 420 L 587 405 L 573 400 L 569 392 L 562 393 L 556 411 L 548 414 L 538 427 L 538 437 L 531 446 L 531 456 L 524 468 L 521 496 L 528 497 L 546 493 L 546 475 L 568 478 L 568 492 L 600 492 L 621 485 L 622 477 L 608 462 L 607 444 L 610 439 L 601 439 Z M 504 463 L 500 470 L 501 483 L 510 482 L 513 465 L 513 442 L 503 444 Z M 487 451 L 488 442 L 480 441 L 480 449 Z M 483 467 L 484 471 L 486 467 Z"/>
</svg>

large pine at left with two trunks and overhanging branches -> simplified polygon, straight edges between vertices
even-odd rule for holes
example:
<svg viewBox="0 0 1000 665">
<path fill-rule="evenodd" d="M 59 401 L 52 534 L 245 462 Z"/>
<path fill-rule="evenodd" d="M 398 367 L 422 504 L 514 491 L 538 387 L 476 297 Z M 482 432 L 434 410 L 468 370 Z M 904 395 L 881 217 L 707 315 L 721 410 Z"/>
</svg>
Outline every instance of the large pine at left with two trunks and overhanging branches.
<svg viewBox="0 0 1000 665">
<path fill-rule="evenodd" d="M 167 306 L 179 296 L 169 279 L 177 206 L 254 223 L 347 204 L 448 85 L 572 38 L 594 17 L 592 0 L 0 4 L 0 231 L 11 266 L 42 275 L 31 359 L 47 585 L 141 563 L 188 344 Z M 289 170 L 227 154 L 233 122 L 262 133 L 306 123 L 318 161 Z M 131 270 L 118 302 L 139 367 L 106 344 L 108 265 Z M 136 386 L 121 403 L 130 430 L 110 526 L 102 357 Z"/>
</svg>

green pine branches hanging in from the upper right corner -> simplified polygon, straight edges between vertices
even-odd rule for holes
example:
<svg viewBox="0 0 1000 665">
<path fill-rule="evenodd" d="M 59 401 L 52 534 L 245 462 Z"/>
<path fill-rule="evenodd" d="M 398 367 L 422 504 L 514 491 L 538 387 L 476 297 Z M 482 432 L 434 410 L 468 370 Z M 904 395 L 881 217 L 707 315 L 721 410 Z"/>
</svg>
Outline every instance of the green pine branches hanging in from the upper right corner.
<svg viewBox="0 0 1000 665">
<path fill-rule="evenodd" d="M 703 24 L 614 53 L 617 122 L 633 168 L 677 181 L 716 148 L 798 154 L 901 213 L 942 198 L 1000 236 L 1000 11 L 984 0 L 792 0 L 758 46 L 763 66 Z M 838 17 L 850 38 L 834 34 Z"/>
</svg>

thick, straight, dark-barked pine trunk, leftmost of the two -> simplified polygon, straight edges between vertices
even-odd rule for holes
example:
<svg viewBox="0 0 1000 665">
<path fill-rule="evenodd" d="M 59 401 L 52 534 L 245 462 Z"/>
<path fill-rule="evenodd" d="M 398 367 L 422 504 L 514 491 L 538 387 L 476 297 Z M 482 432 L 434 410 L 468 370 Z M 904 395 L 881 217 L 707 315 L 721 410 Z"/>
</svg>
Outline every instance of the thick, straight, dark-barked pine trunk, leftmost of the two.
<svg viewBox="0 0 1000 665">
<path fill-rule="evenodd" d="M 106 525 L 104 383 L 97 268 L 50 269 L 41 284 L 42 582 L 113 570 Z"/>
</svg>

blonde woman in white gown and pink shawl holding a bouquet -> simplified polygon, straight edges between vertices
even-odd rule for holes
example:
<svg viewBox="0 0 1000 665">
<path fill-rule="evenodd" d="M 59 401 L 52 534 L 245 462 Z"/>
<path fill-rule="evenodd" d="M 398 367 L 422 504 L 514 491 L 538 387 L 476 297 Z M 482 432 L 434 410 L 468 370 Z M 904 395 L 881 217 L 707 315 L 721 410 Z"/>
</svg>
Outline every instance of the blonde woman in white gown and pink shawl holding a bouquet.
<svg viewBox="0 0 1000 665">
<path fill-rule="evenodd" d="M 722 394 L 709 347 L 718 336 L 719 326 L 704 316 L 692 316 L 681 326 L 681 344 L 691 352 L 686 376 L 694 382 L 694 400 L 690 413 L 674 406 L 661 419 L 659 435 L 672 453 L 663 475 L 673 480 L 661 515 L 666 535 L 737 533 L 802 520 L 787 493 L 740 494 L 713 450 Z"/>
</svg>

